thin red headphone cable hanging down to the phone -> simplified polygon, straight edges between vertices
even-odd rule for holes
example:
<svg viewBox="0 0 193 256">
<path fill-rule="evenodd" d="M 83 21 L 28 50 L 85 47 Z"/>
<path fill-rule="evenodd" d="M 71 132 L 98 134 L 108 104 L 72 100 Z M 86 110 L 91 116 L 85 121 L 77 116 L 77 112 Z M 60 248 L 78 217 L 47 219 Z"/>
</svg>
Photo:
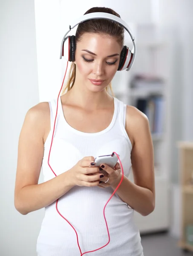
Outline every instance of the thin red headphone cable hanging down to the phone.
<svg viewBox="0 0 193 256">
<path fill-rule="evenodd" d="M 70 41 L 70 40 L 69 40 L 69 41 Z M 128 50 L 127 50 L 127 52 L 128 52 Z M 68 68 L 68 61 L 67 61 L 66 71 L 67 71 L 67 68 Z M 64 81 L 64 79 L 65 79 L 65 76 L 66 76 L 66 72 L 65 72 L 63 81 Z M 63 87 L 63 82 L 62 82 L 62 86 L 61 86 L 61 88 L 60 88 L 60 92 L 61 92 L 61 90 L 62 90 L 62 87 Z M 58 94 L 58 99 L 59 99 L 59 96 L 60 96 L 60 92 L 59 92 L 59 94 Z M 49 156 L 48 156 L 48 165 L 49 165 L 49 167 L 50 167 L 51 170 L 52 170 L 52 167 L 51 167 L 50 164 L 49 164 L 49 157 L 50 157 L 50 152 L 51 152 L 52 143 L 53 143 L 53 137 L 54 137 L 54 131 L 55 131 L 55 124 L 56 124 L 56 117 L 57 117 L 57 114 L 58 114 L 58 99 L 57 99 L 56 116 L 55 116 L 55 122 L 54 122 L 54 130 L 53 130 L 53 134 L 52 134 L 52 141 L 51 141 L 51 145 L 50 145 L 50 149 L 49 149 Z M 117 157 L 118 157 L 118 160 L 120 161 L 121 170 L 122 170 L 122 177 L 121 177 L 121 181 L 119 182 L 118 186 L 116 187 L 116 189 L 114 190 L 114 192 L 113 192 L 112 195 L 110 196 L 109 200 L 107 201 L 107 203 L 105 204 L 104 209 L 103 209 L 103 215 L 104 215 L 104 219 L 105 219 L 105 222 L 106 222 L 107 233 L 108 233 L 108 237 L 109 237 L 109 241 L 107 242 L 107 244 L 109 244 L 109 242 L 110 242 L 110 235 L 109 235 L 109 229 L 108 229 L 108 225 L 107 225 L 107 220 L 106 220 L 106 217 L 105 217 L 105 214 L 104 214 L 105 207 L 107 206 L 108 202 L 110 201 L 110 199 L 112 198 L 112 196 L 113 196 L 113 195 L 115 194 L 115 192 L 117 191 L 118 187 L 121 185 L 121 182 L 122 182 L 123 177 L 124 177 L 124 171 L 123 171 L 123 166 L 122 166 L 121 160 L 120 160 L 120 158 L 119 158 L 119 156 L 118 156 L 118 154 L 117 154 L 116 152 L 113 152 L 112 155 L 113 155 L 113 154 L 116 154 Z M 52 170 L 52 172 L 54 173 L 55 176 L 57 176 L 53 170 Z M 67 221 L 67 222 L 70 224 L 70 222 L 69 222 L 66 218 L 64 218 L 63 215 L 59 212 L 59 210 L 58 210 L 58 200 L 59 200 L 59 198 L 56 200 L 56 210 L 57 210 L 58 214 L 59 214 L 65 221 Z M 70 226 L 73 228 L 73 230 L 75 230 L 75 228 L 72 226 L 72 224 L 70 224 Z M 82 253 L 82 252 L 81 252 L 81 247 L 80 247 L 79 242 L 78 242 L 78 234 L 77 234 L 76 230 L 75 230 L 75 233 L 76 233 L 77 244 L 78 244 L 78 248 L 79 248 L 79 250 L 80 250 L 81 256 L 83 256 L 85 253 L 92 253 L 92 252 L 95 252 L 96 250 L 100 250 L 100 249 L 102 249 L 103 247 L 107 246 L 107 244 L 105 244 L 104 246 L 102 246 L 102 247 L 100 247 L 100 248 L 98 248 L 98 249 L 95 249 L 95 250 L 92 250 L 92 251 L 88 251 L 88 252 Z"/>
</svg>

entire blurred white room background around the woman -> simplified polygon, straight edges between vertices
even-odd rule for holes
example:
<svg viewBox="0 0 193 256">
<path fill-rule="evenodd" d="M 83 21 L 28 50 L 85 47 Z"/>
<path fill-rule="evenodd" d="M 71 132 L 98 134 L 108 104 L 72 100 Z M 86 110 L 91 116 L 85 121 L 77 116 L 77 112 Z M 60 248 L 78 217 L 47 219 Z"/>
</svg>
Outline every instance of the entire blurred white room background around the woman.
<svg viewBox="0 0 193 256">
<path fill-rule="evenodd" d="M 192 0 L 0 2 L 0 255 L 36 255 L 44 210 L 23 216 L 14 209 L 19 134 L 29 108 L 58 96 L 61 40 L 94 6 L 118 12 L 135 37 L 135 63 L 112 86 L 148 116 L 152 132 L 156 208 L 146 217 L 135 212 L 144 256 L 193 255 Z M 132 47 L 127 33 L 125 44 Z"/>
</svg>

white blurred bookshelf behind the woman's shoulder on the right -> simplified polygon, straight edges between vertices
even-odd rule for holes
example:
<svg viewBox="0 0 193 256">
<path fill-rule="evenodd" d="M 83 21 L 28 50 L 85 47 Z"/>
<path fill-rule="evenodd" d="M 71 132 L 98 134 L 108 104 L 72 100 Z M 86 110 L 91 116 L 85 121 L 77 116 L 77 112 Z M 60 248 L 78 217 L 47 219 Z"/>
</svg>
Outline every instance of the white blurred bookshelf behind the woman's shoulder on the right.
<svg viewBox="0 0 193 256">
<path fill-rule="evenodd" d="M 148 35 L 151 36 L 145 38 L 144 31 L 148 29 L 150 31 Z M 140 109 L 147 115 L 150 122 L 154 147 L 156 207 L 150 215 L 145 217 L 135 212 L 134 218 L 141 233 L 151 233 L 168 230 L 170 223 L 172 56 L 170 42 L 161 36 L 161 30 L 156 24 L 135 24 L 135 41 L 137 47 L 135 63 L 129 72 L 115 75 L 112 88 L 115 97 L 127 105 Z M 132 172 L 130 180 L 133 181 Z"/>
</svg>

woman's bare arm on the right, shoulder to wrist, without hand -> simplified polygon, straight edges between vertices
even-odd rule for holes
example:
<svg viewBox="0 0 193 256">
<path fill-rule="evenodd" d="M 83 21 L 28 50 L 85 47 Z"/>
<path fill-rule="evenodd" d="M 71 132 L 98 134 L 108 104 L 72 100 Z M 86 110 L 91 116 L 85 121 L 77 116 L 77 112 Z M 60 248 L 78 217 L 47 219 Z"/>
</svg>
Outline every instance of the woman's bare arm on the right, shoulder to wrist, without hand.
<svg viewBox="0 0 193 256">
<path fill-rule="evenodd" d="M 153 143 L 147 116 L 127 106 L 126 131 L 133 144 L 131 161 L 135 183 L 124 177 L 117 193 L 130 207 L 146 216 L 155 208 Z"/>
</svg>

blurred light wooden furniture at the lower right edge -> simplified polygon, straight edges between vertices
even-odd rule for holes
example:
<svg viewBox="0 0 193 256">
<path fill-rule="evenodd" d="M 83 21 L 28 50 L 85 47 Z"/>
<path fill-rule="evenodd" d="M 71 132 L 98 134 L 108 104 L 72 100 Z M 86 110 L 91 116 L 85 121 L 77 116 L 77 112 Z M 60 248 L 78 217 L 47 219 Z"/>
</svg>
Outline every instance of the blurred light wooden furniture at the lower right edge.
<svg viewBox="0 0 193 256">
<path fill-rule="evenodd" d="M 193 225 L 193 142 L 179 142 L 179 167 L 181 183 L 181 238 L 179 247 L 193 251 L 193 244 L 187 242 L 186 227 Z M 193 235 L 192 235 L 193 236 Z"/>
</svg>

